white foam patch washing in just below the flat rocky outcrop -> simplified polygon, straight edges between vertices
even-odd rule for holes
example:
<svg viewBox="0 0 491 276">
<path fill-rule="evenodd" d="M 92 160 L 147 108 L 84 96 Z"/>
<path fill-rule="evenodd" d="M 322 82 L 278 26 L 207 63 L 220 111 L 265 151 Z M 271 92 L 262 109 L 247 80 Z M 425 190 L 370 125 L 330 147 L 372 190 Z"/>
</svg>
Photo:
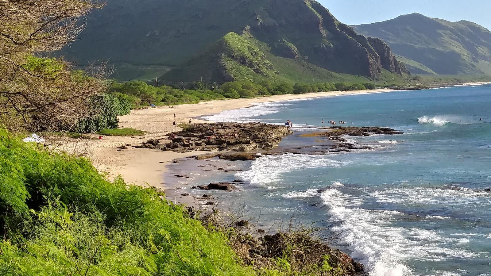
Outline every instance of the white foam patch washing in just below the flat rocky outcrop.
<svg viewBox="0 0 491 276">
<path fill-rule="evenodd" d="M 248 170 L 236 173 L 235 177 L 250 185 L 271 189 L 271 184 L 282 180 L 283 173 L 308 168 L 344 166 L 349 163 L 307 154 L 269 155 L 255 159 Z"/>
</svg>

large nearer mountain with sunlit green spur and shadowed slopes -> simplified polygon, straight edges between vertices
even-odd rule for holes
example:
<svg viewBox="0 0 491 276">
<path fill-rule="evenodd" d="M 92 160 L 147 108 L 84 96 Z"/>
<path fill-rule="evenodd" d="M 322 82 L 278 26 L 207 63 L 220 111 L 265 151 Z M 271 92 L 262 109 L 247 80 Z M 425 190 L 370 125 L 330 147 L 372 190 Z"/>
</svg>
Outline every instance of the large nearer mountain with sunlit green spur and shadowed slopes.
<svg viewBox="0 0 491 276">
<path fill-rule="evenodd" d="M 169 68 L 165 80 L 214 82 L 409 73 L 380 39 L 358 35 L 314 0 L 107 0 L 62 54 L 80 65 L 109 59 L 119 79 Z"/>
</svg>

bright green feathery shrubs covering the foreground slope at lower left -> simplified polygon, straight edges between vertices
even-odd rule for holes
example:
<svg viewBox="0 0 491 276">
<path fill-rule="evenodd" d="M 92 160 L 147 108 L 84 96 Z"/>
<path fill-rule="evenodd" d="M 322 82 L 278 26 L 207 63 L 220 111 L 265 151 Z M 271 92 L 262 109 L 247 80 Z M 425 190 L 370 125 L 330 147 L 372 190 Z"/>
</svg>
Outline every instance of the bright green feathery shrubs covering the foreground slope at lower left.
<svg viewBox="0 0 491 276">
<path fill-rule="evenodd" d="M 110 183 L 88 160 L 4 130 L 0 141 L 1 183 L 17 187 L 0 186 L 1 275 L 254 275 L 220 232 L 156 191 Z"/>
</svg>

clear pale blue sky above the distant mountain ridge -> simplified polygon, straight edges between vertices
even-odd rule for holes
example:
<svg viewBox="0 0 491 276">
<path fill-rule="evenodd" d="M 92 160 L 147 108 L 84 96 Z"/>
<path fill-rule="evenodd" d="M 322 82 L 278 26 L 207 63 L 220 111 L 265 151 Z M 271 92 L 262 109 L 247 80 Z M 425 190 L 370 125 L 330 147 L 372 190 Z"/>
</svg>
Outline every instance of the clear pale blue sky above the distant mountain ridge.
<svg viewBox="0 0 491 276">
<path fill-rule="evenodd" d="M 374 23 L 418 12 L 448 21 L 472 21 L 491 30 L 491 0 L 318 0 L 348 25 Z"/>
</svg>

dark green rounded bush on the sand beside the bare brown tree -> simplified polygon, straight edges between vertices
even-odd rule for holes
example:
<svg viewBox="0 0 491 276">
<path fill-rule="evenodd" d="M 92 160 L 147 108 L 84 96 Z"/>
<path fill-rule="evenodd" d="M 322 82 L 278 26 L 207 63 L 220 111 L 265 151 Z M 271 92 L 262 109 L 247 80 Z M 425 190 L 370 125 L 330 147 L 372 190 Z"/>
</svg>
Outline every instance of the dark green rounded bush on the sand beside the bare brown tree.
<svg viewBox="0 0 491 276">
<path fill-rule="evenodd" d="M 116 98 L 110 94 L 96 96 L 93 99 L 93 113 L 90 118 L 77 122 L 70 131 L 80 133 L 95 133 L 103 129 L 118 126 L 117 116 L 126 115 L 131 111 L 131 104 L 124 98 Z"/>
</svg>

